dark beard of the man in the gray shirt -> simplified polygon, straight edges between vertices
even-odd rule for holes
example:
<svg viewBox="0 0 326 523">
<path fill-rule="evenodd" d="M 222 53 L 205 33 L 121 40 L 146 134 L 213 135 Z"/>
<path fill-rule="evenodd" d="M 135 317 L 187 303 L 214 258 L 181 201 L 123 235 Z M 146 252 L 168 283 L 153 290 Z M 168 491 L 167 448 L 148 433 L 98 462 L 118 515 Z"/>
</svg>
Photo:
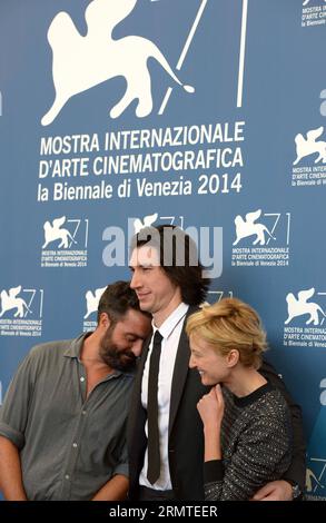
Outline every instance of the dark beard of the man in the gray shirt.
<svg viewBox="0 0 326 523">
<path fill-rule="evenodd" d="M 113 368 L 115 371 L 132 371 L 136 366 L 137 358 L 131 351 L 121 349 L 117 345 L 112 344 L 111 339 L 113 329 L 115 326 L 110 326 L 101 341 L 100 357 L 109 367 Z"/>
</svg>

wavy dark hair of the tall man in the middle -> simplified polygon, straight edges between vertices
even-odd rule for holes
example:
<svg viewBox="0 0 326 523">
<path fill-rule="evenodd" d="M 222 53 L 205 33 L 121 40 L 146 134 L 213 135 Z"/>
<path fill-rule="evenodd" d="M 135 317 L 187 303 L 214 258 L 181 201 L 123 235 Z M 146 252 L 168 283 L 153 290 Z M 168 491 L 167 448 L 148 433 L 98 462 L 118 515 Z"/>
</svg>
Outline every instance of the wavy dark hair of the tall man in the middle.
<svg viewBox="0 0 326 523">
<path fill-rule="evenodd" d="M 160 266 L 170 282 L 180 287 L 182 302 L 187 305 L 200 305 L 210 280 L 202 277 L 204 267 L 190 236 L 174 225 L 144 227 L 132 237 L 130 254 L 144 245 L 159 251 Z"/>
</svg>

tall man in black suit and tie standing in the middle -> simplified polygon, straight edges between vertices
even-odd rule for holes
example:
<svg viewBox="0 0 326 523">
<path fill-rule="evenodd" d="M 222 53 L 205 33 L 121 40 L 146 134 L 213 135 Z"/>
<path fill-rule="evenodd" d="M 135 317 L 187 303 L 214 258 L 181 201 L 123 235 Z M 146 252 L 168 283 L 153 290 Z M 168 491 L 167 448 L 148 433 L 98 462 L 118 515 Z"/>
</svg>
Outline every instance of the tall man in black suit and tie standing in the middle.
<svg viewBox="0 0 326 523">
<path fill-rule="evenodd" d="M 177 227 L 141 229 L 132 238 L 130 254 L 130 286 L 140 308 L 152 314 L 152 335 L 145 343 L 131 397 L 129 497 L 204 500 L 204 434 L 196 406 L 207 388 L 188 366 L 185 325 L 202 303 L 209 280 L 202 277 L 194 241 Z M 270 365 L 264 363 L 260 372 L 290 406 L 294 458 L 284 480 L 267 484 L 255 499 L 292 500 L 305 482 L 300 408 Z"/>
</svg>

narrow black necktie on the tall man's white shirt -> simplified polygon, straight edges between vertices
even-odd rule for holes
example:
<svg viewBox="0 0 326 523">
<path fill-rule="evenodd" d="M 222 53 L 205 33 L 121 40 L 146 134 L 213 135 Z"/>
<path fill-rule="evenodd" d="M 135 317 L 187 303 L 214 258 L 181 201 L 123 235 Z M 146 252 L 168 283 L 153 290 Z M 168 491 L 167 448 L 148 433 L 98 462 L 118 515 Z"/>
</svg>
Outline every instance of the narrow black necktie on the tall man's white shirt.
<svg viewBox="0 0 326 523">
<path fill-rule="evenodd" d="M 148 420 L 148 468 L 147 478 L 154 484 L 160 474 L 159 431 L 158 431 L 158 371 L 161 349 L 161 334 L 156 330 L 149 361 L 147 420 Z"/>
</svg>

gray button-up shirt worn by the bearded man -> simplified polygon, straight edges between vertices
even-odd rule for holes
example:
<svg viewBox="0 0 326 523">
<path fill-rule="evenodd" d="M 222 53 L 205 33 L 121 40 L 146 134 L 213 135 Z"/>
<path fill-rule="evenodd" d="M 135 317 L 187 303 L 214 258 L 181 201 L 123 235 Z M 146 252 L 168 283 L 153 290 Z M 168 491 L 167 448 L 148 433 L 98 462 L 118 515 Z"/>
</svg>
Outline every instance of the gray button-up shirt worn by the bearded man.
<svg viewBox="0 0 326 523">
<path fill-rule="evenodd" d="M 128 475 L 132 375 L 109 374 L 86 398 L 85 337 L 33 347 L 0 407 L 0 435 L 20 451 L 29 500 L 90 500 L 112 475 Z"/>
</svg>

